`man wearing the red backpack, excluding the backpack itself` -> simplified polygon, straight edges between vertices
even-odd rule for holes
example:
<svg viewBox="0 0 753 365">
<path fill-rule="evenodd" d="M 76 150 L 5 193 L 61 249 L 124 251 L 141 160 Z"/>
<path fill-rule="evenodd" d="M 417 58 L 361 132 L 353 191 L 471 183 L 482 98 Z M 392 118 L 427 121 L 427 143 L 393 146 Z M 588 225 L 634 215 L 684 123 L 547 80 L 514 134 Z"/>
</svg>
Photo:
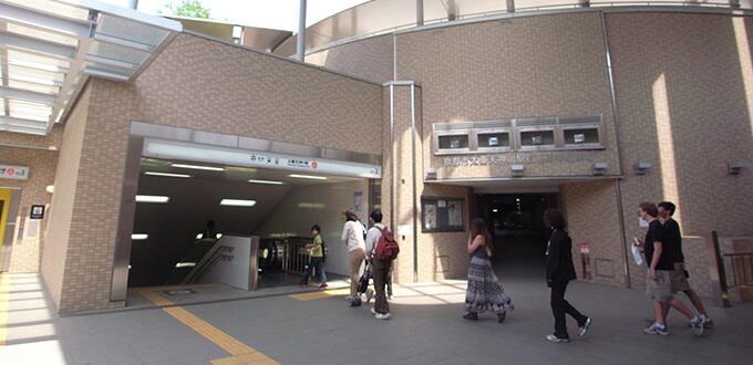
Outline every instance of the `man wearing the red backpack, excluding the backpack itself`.
<svg viewBox="0 0 753 365">
<path fill-rule="evenodd" d="M 371 275 L 374 280 L 374 291 L 376 292 L 371 313 L 378 320 L 389 320 L 392 314 L 390 314 L 390 304 L 386 302 L 384 286 L 390 279 L 392 260 L 381 260 L 376 257 L 379 239 L 383 234 L 382 231 L 389 230 L 389 228 L 382 225 L 382 211 L 380 209 L 374 209 L 369 220 L 372 227 L 367 232 L 367 260 L 371 263 Z"/>
</svg>

